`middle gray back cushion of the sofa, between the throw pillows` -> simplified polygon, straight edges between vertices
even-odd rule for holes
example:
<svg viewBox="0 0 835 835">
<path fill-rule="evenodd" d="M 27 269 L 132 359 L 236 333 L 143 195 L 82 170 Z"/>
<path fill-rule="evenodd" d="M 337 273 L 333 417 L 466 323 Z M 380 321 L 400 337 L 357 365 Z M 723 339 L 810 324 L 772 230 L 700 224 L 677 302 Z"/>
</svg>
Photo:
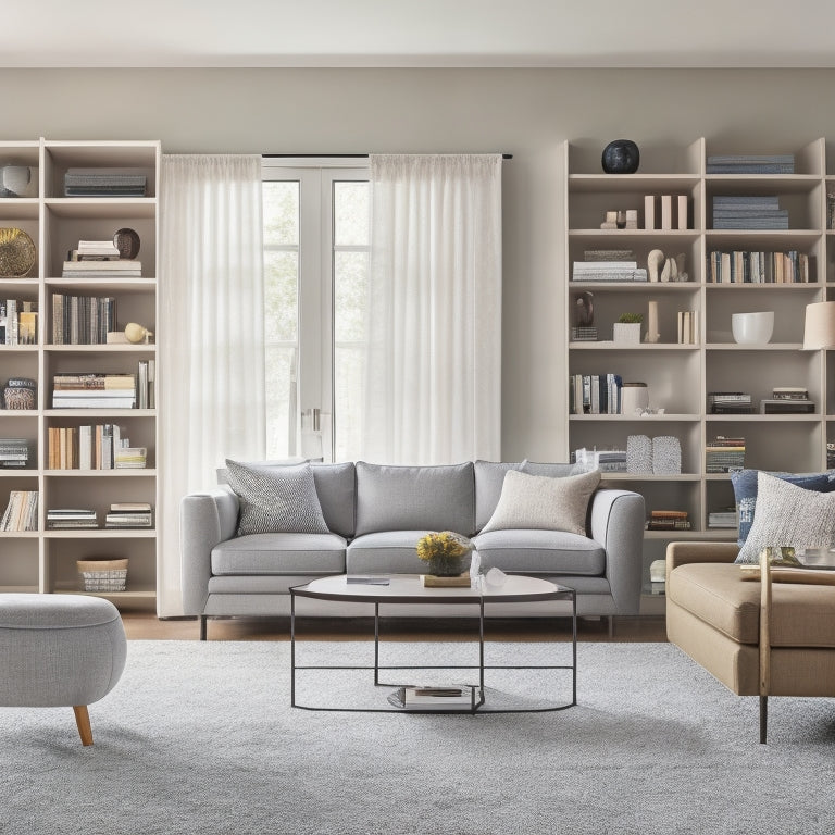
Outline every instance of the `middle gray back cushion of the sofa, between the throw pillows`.
<svg viewBox="0 0 835 835">
<path fill-rule="evenodd" d="M 474 524 L 472 461 L 446 466 L 357 462 L 357 536 L 419 529 L 472 536 Z"/>
</svg>

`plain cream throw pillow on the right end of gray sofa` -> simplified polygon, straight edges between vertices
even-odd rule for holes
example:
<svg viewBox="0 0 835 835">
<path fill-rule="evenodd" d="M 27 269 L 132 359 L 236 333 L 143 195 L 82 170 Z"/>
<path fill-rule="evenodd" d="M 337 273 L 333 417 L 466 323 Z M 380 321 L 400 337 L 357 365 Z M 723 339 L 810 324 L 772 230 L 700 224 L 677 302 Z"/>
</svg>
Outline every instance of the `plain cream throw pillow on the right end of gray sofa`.
<svg viewBox="0 0 835 835">
<path fill-rule="evenodd" d="M 499 503 L 482 533 L 538 528 L 585 536 L 588 500 L 599 484 L 599 470 L 561 478 L 509 470 Z"/>
</svg>

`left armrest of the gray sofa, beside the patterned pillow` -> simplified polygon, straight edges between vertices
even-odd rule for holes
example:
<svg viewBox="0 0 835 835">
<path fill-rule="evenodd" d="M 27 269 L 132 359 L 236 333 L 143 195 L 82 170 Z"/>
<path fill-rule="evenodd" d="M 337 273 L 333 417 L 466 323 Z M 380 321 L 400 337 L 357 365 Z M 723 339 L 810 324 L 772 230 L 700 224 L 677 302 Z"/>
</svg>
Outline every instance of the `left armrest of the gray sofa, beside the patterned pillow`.
<svg viewBox="0 0 835 835">
<path fill-rule="evenodd" d="M 179 506 L 183 613 L 202 614 L 212 576 L 212 548 L 232 539 L 238 521 L 238 497 L 217 488 L 191 493 Z"/>
</svg>

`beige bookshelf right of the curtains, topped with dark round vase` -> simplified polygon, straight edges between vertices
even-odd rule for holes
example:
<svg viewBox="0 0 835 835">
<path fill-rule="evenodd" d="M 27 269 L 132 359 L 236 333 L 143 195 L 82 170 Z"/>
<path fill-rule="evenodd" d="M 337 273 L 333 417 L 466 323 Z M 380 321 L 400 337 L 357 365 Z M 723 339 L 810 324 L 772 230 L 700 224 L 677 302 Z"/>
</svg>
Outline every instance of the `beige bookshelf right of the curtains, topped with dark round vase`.
<svg viewBox="0 0 835 835">
<path fill-rule="evenodd" d="M 835 233 L 826 229 L 826 191 L 835 192 L 835 146 L 817 139 L 794 148 L 727 147 L 703 138 L 687 146 L 640 148 L 635 174 L 602 174 L 600 151 L 606 142 L 565 142 L 565 335 L 568 374 L 620 374 L 624 382 L 648 385 L 650 407 L 665 414 L 566 414 L 565 454 L 581 447 L 626 448 L 630 435 L 671 435 L 682 446 L 682 474 L 670 476 L 615 473 L 612 486 L 645 496 L 647 511 L 686 510 L 691 531 L 646 532 L 645 585 L 649 563 L 664 556 L 673 539 L 733 540 L 735 529 L 708 528 L 711 511 L 734 503 L 730 475 L 705 472 L 705 446 L 716 435 L 746 438 L 745 464 L 765 470 L 820 471 L 826 466 L 826 443 L 835 440 L 835 363 L 826 352 L 802 351 L 803 316 L 810 302 L 835 298 Z M 641 145 L 639 142 L 639 145 Z M 707 174 L 707 158 L 715 153 L 793 153 L 795 174 Z M 637 209 L 644 225 L 646 195 L 686 195 L 688 229 L 600 229 L 606 211 Z M 720 230 L 711 228 L 712 199 L 719 195 L 777 195 L 789 210 L 788 230 Z M 656 213 L 658 221 L 658 212 Z M 688 282 L 600 283 L 572 281 L 572 264 L 587 249 L 628 249 L 639 266 L 660 249 L 665 256 L 684 252 Z M 706 259 L 712 250 L 796 249 L 810 258 L 809 284 L 713 284 L 707 281 Z M 574 297 L 595 297 L 597 342 L 572 342 Z M 612 323 L 622 312 L 645 316 L 648 302 L 659 307 L 661 339 L 623 346 L 611 340 Z M 699 311 L 697 345 L 677 345 L 676 311 Z M 731 315 L 773 310 L 775 326 L 765 346 L 737 345 Z M 565 382 L 568 385 L 568 382 Z M 814 414 L 715 415 L 708 413 L 710 391 L 747 391 L 755 404 L 775 386 L 805 386 L 815 402 Z M 649 599 L 649 598 L 652 599 Z M 662 609 L 663 598 L 646 595 L 649 612 Z"/>
</svg>

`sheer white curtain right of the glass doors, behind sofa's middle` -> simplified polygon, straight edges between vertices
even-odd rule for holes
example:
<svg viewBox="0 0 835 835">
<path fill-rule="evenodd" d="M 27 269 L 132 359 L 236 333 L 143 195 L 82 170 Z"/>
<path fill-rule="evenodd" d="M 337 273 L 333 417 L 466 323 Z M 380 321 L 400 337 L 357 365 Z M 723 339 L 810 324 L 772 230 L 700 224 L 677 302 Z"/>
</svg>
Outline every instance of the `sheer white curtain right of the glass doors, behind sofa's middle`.
<svg viewBox="0 0 835 835">
<path fill-rule="evenodd" d="M 362 458 L 497 460 L 501 157 L 372 154 Z"/>
</svg>

